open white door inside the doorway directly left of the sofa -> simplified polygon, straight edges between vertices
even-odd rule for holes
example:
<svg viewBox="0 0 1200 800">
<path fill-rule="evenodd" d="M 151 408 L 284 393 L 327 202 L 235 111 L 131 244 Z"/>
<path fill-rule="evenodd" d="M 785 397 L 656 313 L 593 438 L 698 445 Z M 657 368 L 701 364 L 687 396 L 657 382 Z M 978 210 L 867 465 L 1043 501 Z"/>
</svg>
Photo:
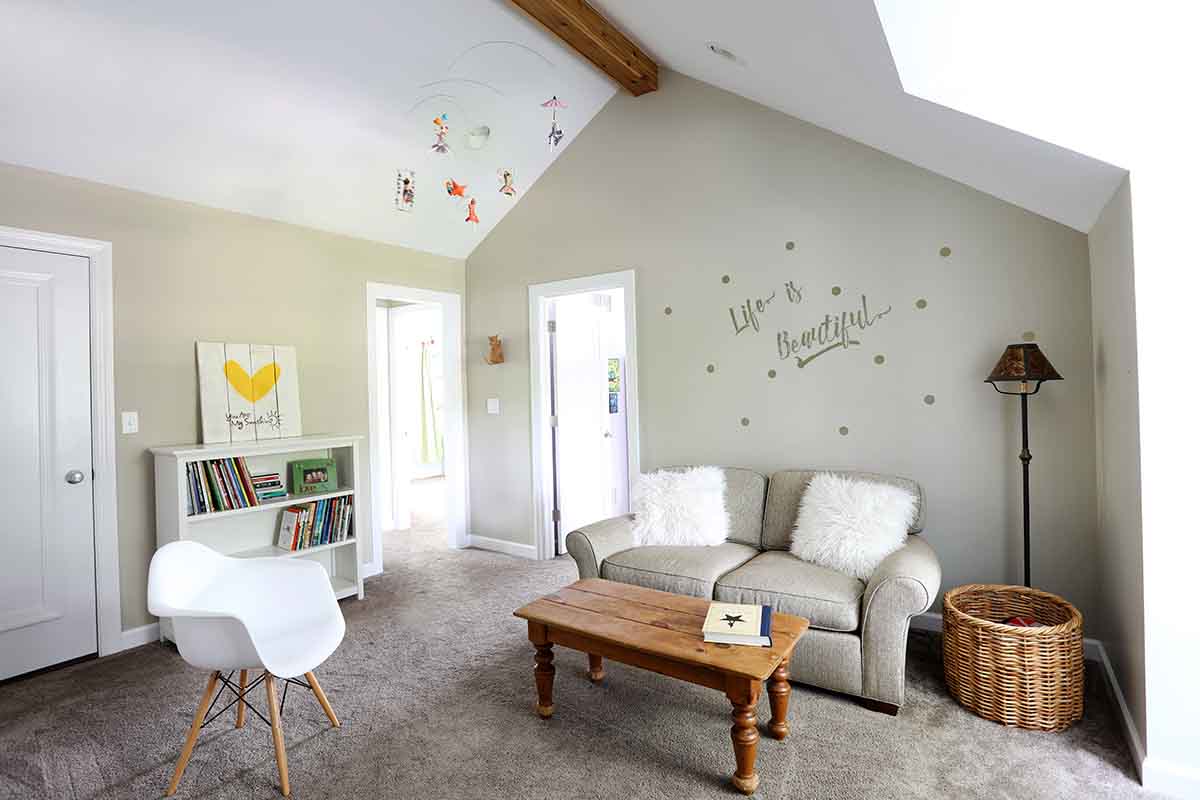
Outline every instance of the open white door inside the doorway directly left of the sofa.
<svg viewBox="0 0 1200 800">
<path fill-rule="evenodd" d="M 554 299 L 556 464 L 559 537 L 605 519 L 612 509 L 608 360 L 605 309 L 596 295 Z M 562 542 L 559 543 L 562 547 Z"/>
</svg>

